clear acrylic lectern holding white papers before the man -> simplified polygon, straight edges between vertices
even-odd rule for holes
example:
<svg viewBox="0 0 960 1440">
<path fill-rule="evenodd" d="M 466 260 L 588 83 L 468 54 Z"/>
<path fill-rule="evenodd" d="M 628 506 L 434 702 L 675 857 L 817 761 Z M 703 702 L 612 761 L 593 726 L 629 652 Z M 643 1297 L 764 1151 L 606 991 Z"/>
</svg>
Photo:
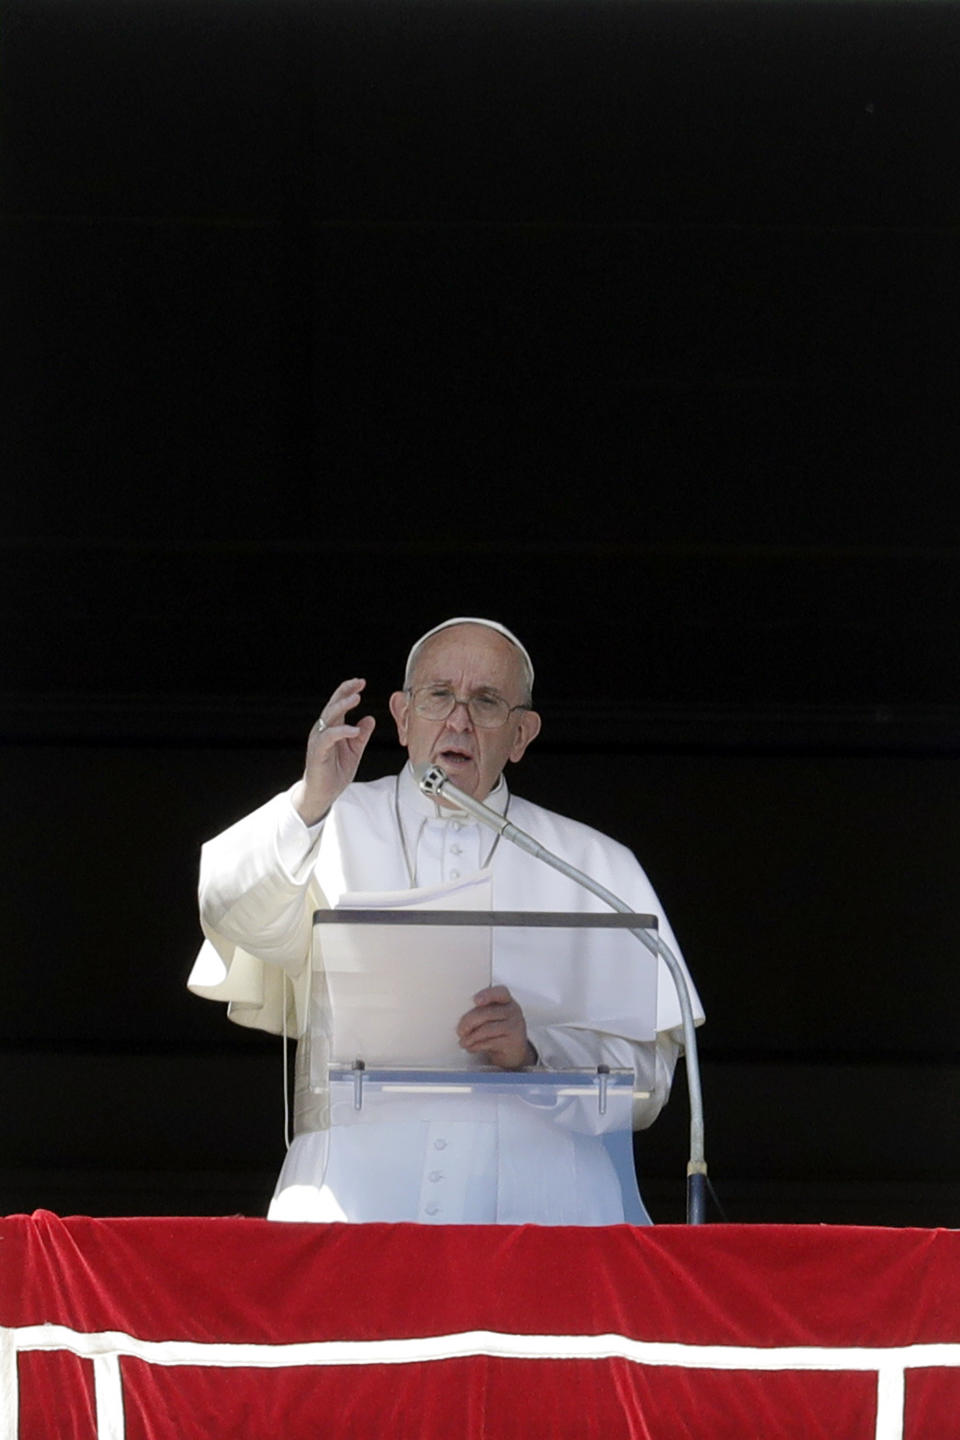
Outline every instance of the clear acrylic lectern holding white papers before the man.
<svg viewBox="0 0 960 1440">
<path fill-rule="evenodd" d="M 324 1043 L 309 1068 L 312 1092 L 327 1092 L 330 1126 L 402 1122 L 430 1106 L 482 1119 L 505 1100 L 535 1110 L 538 1123 L 599 1136 L 620 1182 L 625 1220 L 648 1223 L 632 1135 L 633 1103 L 649 1092 L 636 1089 L 633 1070 L 501 1070 L 461 1050 L 455 1032 L 474 994 L 502 982 L 534 1032 L 573 1025 L 653 1040 L 658 963 L 629 933 L 636 930 L 655 932 L 656 917 L 318 910 L 309 1028 Z M 590 1012 L 590 1004 L 604 1012 Z"/>
</svg>

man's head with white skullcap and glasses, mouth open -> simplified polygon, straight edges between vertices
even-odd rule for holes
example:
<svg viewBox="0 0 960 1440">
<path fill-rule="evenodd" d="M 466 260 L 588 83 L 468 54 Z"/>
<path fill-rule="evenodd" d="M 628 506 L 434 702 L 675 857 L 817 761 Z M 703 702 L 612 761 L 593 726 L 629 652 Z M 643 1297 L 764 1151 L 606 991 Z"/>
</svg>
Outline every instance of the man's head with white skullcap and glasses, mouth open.
<svg viewBox="0 0 960 1440">
<path fill-rule="evenodd" d="M 502 696 L 510 706 L 527 700 L 517 647 L 482 625 L 450 625 L 429 639 L 410 684 L 413 690 L 443 685 L 459 700 L 481 694 Z M 390 714 L 413 765 L 440 765 L 458 789 L 478 801 L 486 799 L 507 760 L 520 760 L 540 730 L 533 710 L 512 710 L 497 730 L 475 726 L 465 704 L 456 704 L 446 720 L 427 720 L 403 690 L 390 696 Z"/>
</svg>

